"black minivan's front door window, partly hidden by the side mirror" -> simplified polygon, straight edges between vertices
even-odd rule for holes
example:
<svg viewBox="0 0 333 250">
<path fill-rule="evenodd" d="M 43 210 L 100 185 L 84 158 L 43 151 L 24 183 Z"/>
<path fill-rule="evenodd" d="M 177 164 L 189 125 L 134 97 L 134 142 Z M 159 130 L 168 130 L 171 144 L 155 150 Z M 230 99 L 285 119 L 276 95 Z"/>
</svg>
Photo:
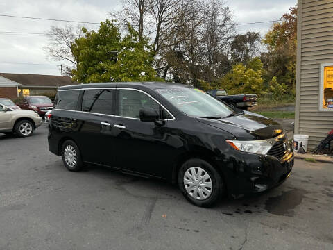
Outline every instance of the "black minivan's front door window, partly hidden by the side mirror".
<svg viewBox="0 0 333 250">
<path fill-rule="evenodd" d="M 160 105 L 137 90 L 119 90 L 119 115 L 122 117 L 139 118 L 140 108 L 153 108 L 160 113 Z"/>
</svg>

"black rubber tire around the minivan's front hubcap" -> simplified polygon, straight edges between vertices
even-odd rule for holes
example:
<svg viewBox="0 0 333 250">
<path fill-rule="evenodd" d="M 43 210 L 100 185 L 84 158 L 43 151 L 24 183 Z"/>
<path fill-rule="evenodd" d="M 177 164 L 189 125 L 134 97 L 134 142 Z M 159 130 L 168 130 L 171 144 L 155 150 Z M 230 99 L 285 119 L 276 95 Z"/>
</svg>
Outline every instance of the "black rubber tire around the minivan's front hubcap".
<svg viewBox="0 0 333 250">
<path fill-rule="evenodd" d="M 212 191 L 210 193 L 210 196 L 208 196 L 206 199 L 200 199 L 200 200 L 195 199 L 193 197 L 193 194 L 192 195 L 189 194 L 189 192 L 187 192 L 185 188 L 184 184 L 185 173 L 191 167 L 200 167 L 210 176 L 210 179 L 212 181 Z M 205 207 L 205 208 L 211 207 L 217 201 L 219 201 L 225 189 L 223 178 L 221 178 L 221 175 L 216 171 L 216 169 L 214 169 L 214 167 L 210 165 L 210 163 L 207 163 L 205 160 L 201 160 L 199 158 L 189 159 L 180 167 L 178 172 L 178 185 L 182 194 L 185 196 L 185 198 L 188 201 L 190 201 L 196 206 Z"/>
</svg>

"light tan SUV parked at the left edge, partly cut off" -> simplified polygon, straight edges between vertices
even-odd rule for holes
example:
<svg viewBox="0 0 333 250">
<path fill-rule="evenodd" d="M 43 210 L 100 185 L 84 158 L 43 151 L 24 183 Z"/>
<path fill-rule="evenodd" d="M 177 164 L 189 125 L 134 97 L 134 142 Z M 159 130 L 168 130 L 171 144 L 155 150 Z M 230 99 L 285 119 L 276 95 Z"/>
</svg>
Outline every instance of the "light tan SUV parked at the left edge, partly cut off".
<svg viewBox="0 0 333 250">
<path fill-rule="evenodd" d="M 15 133 L 27 137 L 42 124 L 42 118 L 34 111 L 8 108 L 0 104 L 0 133 Z"/>
</svg>

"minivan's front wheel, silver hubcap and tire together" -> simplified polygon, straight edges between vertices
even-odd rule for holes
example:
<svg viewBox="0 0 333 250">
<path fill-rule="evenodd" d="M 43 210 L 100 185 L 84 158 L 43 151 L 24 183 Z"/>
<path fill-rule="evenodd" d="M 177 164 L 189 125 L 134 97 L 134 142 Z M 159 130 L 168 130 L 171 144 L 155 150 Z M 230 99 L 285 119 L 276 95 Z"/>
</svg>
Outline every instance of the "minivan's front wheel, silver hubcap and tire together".
<svg viewBox="0 0 333 250">
<path fill-rule="evenodd" d="M 178 172 L 178 184 L 182 194 L 196 206 L 210 207 L 223 193 L 223 179 L 205 160 L 187 160 Z"/>
</svg>

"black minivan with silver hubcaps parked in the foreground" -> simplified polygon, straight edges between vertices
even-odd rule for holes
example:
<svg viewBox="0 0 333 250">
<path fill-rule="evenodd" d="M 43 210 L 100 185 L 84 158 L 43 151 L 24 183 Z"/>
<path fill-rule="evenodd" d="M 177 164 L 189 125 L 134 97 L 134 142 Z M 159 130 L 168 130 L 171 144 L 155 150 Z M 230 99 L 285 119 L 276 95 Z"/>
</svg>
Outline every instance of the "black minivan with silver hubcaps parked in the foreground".
<svg viewBox="0 0 333 250">
<path fill-rule="evenodd" d="M 48 138 L 70 171 L 94 163 L 161 178 L 197 206 L 264 192 L 293 167 L 280 124 L 173 83 L 60 87 Z"/>
</svg>

